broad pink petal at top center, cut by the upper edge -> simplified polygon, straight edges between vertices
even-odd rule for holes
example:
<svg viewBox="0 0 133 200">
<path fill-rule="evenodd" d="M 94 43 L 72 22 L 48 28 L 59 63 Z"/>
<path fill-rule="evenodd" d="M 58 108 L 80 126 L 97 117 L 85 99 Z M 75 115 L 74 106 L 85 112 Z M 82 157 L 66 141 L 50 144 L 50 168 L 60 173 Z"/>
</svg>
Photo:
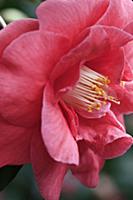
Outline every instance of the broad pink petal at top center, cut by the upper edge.
<svg viewBox="0 0 133 200">
<path fill-rule="evenodd" d="M 95 24 L 107 6 L 108 0 L 48 0 L 40 5 L 37 15 L 42 31 L 62 33 L 73 40 L 84 28 Z"/>
</svg>

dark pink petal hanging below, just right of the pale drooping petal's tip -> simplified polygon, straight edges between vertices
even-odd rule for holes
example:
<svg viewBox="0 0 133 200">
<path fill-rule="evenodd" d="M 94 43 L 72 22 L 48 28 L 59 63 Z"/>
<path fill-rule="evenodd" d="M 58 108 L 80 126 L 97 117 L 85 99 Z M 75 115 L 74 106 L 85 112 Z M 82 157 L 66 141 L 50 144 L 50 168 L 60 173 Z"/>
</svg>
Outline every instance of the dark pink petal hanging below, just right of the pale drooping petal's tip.
<svg viewBox="0 0 133 200">
<path fill-rule="evenodd" d="M 80 163 L 79 166 L 72 168 L 72 173 L 84 185 L 96 187 L 99 181 L 99 172 L 104 160 L 96 155 L 91 149 L 85 149 L 85 144 L 80 144 Z"/>
</svg>

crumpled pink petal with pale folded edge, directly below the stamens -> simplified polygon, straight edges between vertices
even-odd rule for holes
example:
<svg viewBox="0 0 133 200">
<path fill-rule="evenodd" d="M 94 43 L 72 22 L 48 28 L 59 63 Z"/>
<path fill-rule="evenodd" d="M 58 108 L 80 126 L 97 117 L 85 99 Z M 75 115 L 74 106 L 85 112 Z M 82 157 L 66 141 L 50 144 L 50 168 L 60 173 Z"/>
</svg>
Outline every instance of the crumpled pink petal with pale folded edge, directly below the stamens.
<svg viewBox="0 0 133 200">
<path fill-rule="evenodd" d="M 97 120 L 79 118 L 79 140 L 84 139 L 98 146 L 105 140 L 107 134 L 107 128 L 109 126 L 117 127 L 122 131 L 125 131 L 123 125 L 118 121 L 112 111 L 106 113 L 104 117 Z M 78 139 L 78 137 L 77 137 Z"/>
</svg>

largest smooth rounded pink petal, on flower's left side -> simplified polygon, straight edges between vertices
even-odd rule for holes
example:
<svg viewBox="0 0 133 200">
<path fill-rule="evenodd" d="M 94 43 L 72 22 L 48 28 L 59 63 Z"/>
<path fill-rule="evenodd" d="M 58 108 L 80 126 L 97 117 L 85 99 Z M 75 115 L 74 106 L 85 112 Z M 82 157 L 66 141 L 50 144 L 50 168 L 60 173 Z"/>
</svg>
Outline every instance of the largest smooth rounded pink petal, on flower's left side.
<svg viewBox="0 0 133 200">
<path fill-rule="evenodd" d="M 63 44 L 62 44 L 63 42 Z M 66 40 L 53 33 L 23 34 L 6 48 L 0 65 L 1 115 L 19 126 L 34 126 L 41 113 L 42 89 Z M 65 44 L 64 44 L 65 43 Z"/>
</svg>

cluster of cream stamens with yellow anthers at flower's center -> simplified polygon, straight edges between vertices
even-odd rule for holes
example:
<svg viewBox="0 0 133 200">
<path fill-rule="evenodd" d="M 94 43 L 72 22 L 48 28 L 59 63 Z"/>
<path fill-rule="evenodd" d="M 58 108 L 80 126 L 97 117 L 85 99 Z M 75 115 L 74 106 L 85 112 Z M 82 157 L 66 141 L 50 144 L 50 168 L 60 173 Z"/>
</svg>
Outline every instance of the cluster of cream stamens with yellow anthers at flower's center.
<svg viewBox="0 0 133 200">
<path fill-rule="evenodd" d="M 92 69 L 83 66 L 78 83 L 67 92 L 63 99 L 77 109 L 88 112 L 100 110 L 109 102 L 120 104 L 114 95 L 110 95 L 110 80 Z"/>
</svg>

